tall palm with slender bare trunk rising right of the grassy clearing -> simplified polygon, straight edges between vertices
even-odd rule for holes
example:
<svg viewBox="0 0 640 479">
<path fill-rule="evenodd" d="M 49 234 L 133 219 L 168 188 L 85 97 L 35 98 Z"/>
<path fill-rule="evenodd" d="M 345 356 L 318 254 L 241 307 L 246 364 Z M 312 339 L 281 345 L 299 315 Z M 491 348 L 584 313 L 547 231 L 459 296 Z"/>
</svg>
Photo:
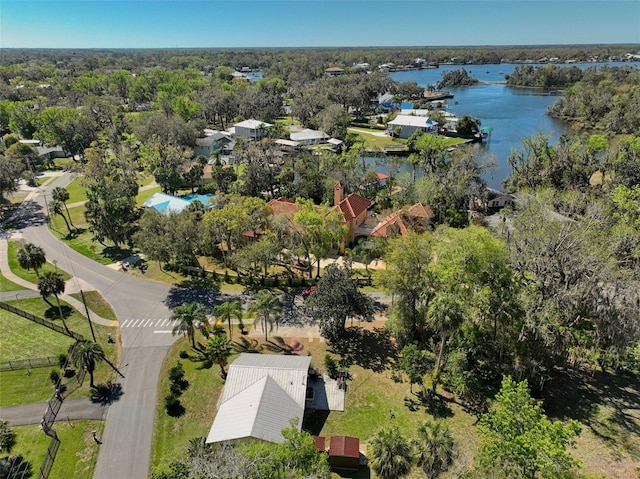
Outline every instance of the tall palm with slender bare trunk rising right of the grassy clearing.
<svg viewBox="0 0 640 479">
<path fill-rule="evenodd" d="M 429 304 L 427 321 L 440 335 L 440 351 L 433 369 L 433 381 L 431 383 L 431 390 L 435 392 L 440 381 L 440 370 L 442 369 L 442 358 L 447 339 L 464 321 L 462 305 L 458 298 L 450 293 L 437 294 Z"/>
</svg>

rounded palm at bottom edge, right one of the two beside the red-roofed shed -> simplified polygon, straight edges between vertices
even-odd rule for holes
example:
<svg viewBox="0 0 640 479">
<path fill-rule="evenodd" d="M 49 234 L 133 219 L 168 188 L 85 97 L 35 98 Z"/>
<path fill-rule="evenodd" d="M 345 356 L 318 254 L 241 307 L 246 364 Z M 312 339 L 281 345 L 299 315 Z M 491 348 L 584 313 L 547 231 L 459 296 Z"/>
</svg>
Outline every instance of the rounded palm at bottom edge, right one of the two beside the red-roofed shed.
<svg viewBox="0 0 640 479">
<path fill-rule="evenodd" d="M 455 441 L 442 420 L 427 419 L 418 426 L 416 460 L 428 479 L 436 479 L 455 458 Z"/>
</svg>

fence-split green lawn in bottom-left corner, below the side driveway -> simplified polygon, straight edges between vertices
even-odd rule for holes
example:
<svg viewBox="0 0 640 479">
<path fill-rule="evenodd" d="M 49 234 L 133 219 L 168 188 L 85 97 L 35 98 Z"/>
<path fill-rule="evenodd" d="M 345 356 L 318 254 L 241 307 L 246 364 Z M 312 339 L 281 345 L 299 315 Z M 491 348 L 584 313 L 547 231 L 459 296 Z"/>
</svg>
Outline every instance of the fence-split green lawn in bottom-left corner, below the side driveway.
<svg viewBox="0 0 640 479">
<path fill-rule="evenodd" d="M 32 477 L 36 477 L 51 438 L 42 432 L 39 425 L 17 426 L 13 429 L 17 433 L 17 445 L 12 453 L 24 456 L 31 463 Z M 61 421 L 56 422 L 54 430 L 60 439 L 60 447 L 49 477 L 93 477 L 100 446 L 94 442 L 91 432 L 98 431 L 98 437 L 101 437 L 104 422 L 72 421 L 69 424 Z"/>
</svg>

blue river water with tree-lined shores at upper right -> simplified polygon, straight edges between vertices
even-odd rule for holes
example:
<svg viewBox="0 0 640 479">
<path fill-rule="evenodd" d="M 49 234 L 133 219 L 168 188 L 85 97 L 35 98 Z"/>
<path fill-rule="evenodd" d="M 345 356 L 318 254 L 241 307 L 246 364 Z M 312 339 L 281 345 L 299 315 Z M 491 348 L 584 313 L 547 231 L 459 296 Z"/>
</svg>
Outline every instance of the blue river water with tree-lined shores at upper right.
<svg viewBox="0 0 640 479">
<path fill-rule="evenodd" d="M 625 65 L 638 67 L 640 63 L 576 63 L 573 65 L 584 69 Z M 488 186 L 502 189 L 502 181 L 511 172 L 507 160 L 512 150 L 521 149 L 522 138 L 541 133 L 549 136 L 553 144 L 569 130 L 566 123 L 547 115 L 547 109 L 558 100 L 557 96 L 549 95 L 548 92 L 539 89 L 506 86 L 504 76 L 512 73 L 517 66 L 505 63 L 441 65 L 440 68 L 434 69 L 394 72 L 391 73 L 391 77 L 400 82 L 415 81 L 418 85 L 427 87 L 435 86 L 442 79 L 444 72 L 465 68 L 473 78 L 482 82 L 476 86 L 447 88 L 446 90 L 454 95 L 454 98 L 447 100 L 449 105 L 447 110 L 458 117 L 470 115 L 478 118 L 482 127 L 493 128 L 491 138 L 478 147 L 494 157 L 495 168 L 485 174 Z"/>
</svg>

